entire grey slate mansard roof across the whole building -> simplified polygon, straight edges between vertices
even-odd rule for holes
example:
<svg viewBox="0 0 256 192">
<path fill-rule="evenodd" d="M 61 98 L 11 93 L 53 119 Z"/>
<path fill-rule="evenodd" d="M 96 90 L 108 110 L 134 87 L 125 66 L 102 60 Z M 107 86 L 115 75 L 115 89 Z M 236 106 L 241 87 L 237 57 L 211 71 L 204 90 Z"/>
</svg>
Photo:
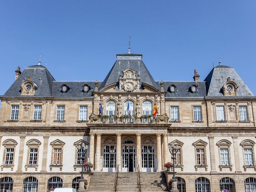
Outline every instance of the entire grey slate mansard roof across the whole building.
<svg viewBox="0 0 256 192">
<path fill-rule="evenodd" d="M 112 83 L 118 82 L 122 70 L 131 68 L 140 74 L 140 83 L 149 84 L 160 91 L 160 81 L 155 81 L 142 61 L 142 54 L 117 54 L 117 60 L 108 72 L 104 81 L 98 81 L 98 89 L 102 89 Z M 10 86 L 4 96 L 20 96 L 20 85 L 28 77 L 37 85 L 36 97 L 93 97 L 95 81 L 55 81 L 46 67 L 41 65 L 29 66 L 24 69 L 17 80 Z M 254 96 L 246 86 L 242 78 L 233 67 L 218 65 L 212 69 L 204 81 L 163 81 L 166 98 L 204 98 L 220 97 L 224 94 L 222 86 L 227 82 L 228 77 L 238 85 L 237 96 Z M 61 86 L 66 84 L 69 87 L 67 92 L 61 91 Z M 90 89 L 84 92 L 83 86 L 88 85 Z M 175 92 L 170 91 L 170 86 L 175 86 Z M 196 92 L 190 87 L 196 86 Z M 234 96 L 233 96 L 234 97 Z"/>
</svg>

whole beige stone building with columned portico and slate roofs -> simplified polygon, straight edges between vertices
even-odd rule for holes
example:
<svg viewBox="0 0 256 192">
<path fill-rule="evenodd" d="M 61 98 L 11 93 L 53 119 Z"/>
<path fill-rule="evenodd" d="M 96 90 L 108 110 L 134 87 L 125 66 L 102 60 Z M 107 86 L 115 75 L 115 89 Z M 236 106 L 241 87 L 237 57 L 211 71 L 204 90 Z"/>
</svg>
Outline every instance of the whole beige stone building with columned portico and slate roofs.
<svg viewBox="0 0 256 192">
<path fill-rule="evenodd" d="M 104 81 L 56 81 L 40 62 L 15 73 L 0 96 L 1 190 L 76 187 L 82 143 L 93 172 L 165 171 L 174 143 L 180 192 L 256 191 L 256 97 L 233 67 L 155 81 L 141 54 L 118 54 Z"/>
</svg>

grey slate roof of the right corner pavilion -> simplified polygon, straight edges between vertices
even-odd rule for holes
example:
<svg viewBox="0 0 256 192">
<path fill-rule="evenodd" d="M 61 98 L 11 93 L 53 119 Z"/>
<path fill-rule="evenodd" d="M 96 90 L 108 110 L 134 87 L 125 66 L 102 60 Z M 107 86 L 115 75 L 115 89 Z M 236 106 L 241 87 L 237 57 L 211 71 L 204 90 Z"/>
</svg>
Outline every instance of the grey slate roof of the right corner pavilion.
<svg viewBox="0 0 256 192">
<path fill-rule="evenodd" d="M 207 96 L 224 96 L 221 88 L 228 77 L 238 85 L 237 96 L 254 96 L 233 67 L 219 65 L 205 78 Z"/>
</svg>

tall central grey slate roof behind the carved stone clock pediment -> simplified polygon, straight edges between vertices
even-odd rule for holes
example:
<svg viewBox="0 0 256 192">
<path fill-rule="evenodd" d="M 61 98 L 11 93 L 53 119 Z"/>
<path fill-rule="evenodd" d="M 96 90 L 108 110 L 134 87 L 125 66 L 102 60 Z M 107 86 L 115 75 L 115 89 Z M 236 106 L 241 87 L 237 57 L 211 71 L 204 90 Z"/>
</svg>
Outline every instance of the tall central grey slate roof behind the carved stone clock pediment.
<svg viewBox="0 0 256 192">
<path fill-rule="evenodd" d="M 149 84 L 155 88 L 158 87 L 143 63 L 141 54 L 118 54 L 116 62 L 99 88 L 101 89 L 109 84 L 118 82 L 118 72 L 122 75 L 122 70 L 126 70 L 128 68 L 137 70 L 137 74 L 140 72 L 140 82 Z"/>
</svg>

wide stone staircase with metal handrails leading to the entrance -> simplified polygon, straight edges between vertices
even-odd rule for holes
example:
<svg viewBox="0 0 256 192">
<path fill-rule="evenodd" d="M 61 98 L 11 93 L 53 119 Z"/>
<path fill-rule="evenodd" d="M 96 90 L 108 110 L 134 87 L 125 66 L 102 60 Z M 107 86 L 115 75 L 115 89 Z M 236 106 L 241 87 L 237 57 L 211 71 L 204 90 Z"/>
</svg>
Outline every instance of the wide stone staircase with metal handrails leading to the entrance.
<svg viewBox="0 0 256 192">
<path fill-rule="evenodd" d="M 114 192 L 115 172 L 94 172 L 88 192 Z M 164 173 L 141 172 L 141 192 L 168 191 Z M 138 192 L 136 172 L 119 172 L 117 192 Z"/>
</svg>

